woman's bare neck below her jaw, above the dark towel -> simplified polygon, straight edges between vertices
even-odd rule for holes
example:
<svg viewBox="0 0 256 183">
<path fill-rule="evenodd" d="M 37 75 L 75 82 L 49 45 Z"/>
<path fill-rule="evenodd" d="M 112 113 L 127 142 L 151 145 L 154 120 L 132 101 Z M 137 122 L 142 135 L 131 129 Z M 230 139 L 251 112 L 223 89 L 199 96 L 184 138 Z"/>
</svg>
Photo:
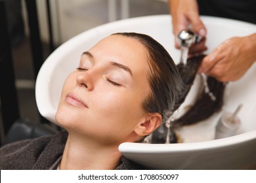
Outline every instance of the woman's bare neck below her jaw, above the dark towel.
<svg viewBox="0 0 256 183">
<path fill-rule="evenodd" d="M 60 169 L 116 169 L 121 158 L 118 146 L 106 146 L 87 138 L 68 135 Z"/>
</svg>

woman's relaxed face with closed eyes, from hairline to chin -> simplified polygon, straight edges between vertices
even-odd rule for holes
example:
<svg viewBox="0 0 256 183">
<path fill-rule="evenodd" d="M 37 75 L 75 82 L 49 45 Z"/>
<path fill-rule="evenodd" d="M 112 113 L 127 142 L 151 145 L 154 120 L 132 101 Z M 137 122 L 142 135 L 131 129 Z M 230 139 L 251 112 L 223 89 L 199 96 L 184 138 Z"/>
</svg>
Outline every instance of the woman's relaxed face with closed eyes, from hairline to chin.
<svg viewBox="0 0 256 183">
<path fill-rule="evenodd" d="M 110 143 L 133 141 L 148 118 L 148 52 L 136 39 L 112 35 L 81 56 L 64 83 L 56 121 L 70 133 Z"/>
</svg>

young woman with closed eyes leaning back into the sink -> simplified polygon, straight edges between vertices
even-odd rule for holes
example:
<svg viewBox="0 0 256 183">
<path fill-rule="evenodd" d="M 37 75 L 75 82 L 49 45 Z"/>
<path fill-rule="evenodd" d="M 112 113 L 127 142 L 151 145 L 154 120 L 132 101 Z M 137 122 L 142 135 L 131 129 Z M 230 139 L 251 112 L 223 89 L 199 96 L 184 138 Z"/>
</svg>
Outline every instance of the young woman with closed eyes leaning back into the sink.
<svg viewBox="0 0 256 183">
<path fill-rule="evenodd" d="M 3 146 L 0 169 L 145 169 L 118 146 L 150 135 L 181 90 L 173 59 L 152 37 L 110 35 L 64 82 L 56 122 L 66 131 Z"/>
</svg>

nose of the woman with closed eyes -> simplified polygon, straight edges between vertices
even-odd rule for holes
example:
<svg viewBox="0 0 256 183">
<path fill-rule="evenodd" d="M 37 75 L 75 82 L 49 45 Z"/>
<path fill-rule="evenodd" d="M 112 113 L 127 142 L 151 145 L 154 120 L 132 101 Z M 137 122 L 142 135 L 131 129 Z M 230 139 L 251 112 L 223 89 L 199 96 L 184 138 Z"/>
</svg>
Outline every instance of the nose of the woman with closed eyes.
<svg viewBox="0 0 256 183">
<path fill-rule="evenodd" d="M 77 86 L 81 86 L 88 91 L 92 91 L 94 89 L 93 77 L 89 71 L 85 71 L 83 73 L 79 73 L 76 76 Z"/>
</svg>

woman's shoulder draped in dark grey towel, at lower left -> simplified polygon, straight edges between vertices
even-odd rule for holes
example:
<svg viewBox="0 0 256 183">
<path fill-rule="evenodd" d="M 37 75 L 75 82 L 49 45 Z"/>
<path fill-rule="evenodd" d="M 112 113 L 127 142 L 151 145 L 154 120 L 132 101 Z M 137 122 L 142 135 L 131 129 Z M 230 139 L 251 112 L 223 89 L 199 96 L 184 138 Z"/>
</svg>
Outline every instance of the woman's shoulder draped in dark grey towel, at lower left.
<svg viewBox="0 0 256 183">
<path fill-rule="evenodd" d="M 43 154 L 62 150 L 66 138 L 67 133 L 60 132 L 6 144 L 0 148 L 0 169 L 33 169 Z"/>
</svg>

